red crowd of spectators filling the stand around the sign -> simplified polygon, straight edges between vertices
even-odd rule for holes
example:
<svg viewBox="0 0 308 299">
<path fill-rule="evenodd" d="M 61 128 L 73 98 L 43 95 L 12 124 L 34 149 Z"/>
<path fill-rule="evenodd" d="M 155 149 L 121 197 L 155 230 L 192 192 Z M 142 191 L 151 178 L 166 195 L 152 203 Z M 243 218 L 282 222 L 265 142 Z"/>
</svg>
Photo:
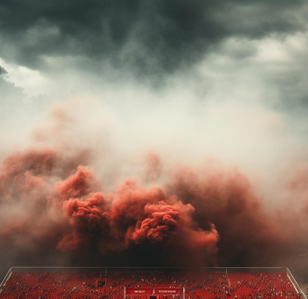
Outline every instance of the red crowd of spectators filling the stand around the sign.
<svg viewBox="0 0 308 299">
<path fill-rule="evenodd" d="M 12 272 L 0 299 L 124 299 L 124 287 L 185 288 L 185 299 L 302 299 L 286 273 L 268 272 Z"/>
</svg>

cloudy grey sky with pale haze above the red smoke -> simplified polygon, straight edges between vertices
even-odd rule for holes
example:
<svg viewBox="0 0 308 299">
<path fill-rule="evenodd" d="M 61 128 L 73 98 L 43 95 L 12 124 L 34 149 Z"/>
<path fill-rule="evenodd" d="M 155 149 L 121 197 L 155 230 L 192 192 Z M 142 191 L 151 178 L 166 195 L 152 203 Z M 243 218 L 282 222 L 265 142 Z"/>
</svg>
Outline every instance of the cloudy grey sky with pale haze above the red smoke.
<svg viewBox="0 0 308 299">
<path fill-rule="evenodd" d="M 307 15 L 307 0 L 0 0 L 0 66 L 23 88 L 0 94 L 0 158 L 90 150 L 107 191 L 149 152 L 164 187 L 215 160 L 268 209 L 296 195 L 307 213 Z"/>
</svg>

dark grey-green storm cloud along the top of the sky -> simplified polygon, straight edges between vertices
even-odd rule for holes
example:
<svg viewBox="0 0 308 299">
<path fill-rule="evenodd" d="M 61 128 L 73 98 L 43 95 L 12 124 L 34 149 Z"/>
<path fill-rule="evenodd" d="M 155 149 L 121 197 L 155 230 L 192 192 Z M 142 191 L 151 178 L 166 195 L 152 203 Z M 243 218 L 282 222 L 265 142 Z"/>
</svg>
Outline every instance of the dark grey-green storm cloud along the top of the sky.
<svg viewBox="0 0 308 299">
<path fill-rule="evenodd" d="M 137 75 L 173 73 L 230 36 L 303 30 L 298 12 L 304 5 L 303 0 L 2 0 L 0 56 L 37 69 L 48 57 L 62 57 L 80 68 L 99 70 L 107 61 Z"/>
</svg>

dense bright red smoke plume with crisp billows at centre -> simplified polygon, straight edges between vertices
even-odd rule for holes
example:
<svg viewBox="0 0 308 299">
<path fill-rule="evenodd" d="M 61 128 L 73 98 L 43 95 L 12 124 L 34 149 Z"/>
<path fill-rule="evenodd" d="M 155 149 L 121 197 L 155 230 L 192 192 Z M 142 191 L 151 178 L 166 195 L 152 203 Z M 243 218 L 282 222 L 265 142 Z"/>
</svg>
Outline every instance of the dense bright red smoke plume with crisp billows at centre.
<svg viewBox="0 0 308 299">
<path fill-rule="evenodd" d="M 218 233 L 214 225 L 208 231 L 194 228 L 191 204 L 183 204 L 176 197 L 168 198 L 159 187 L 149 190 L 126 179 L 115 194 L 91 190 L 93 174 L 78 167 L 77 172 L 56 185 L 56 201 L 63 203 L 70 230 L 59 241 L 58 248 L 65 250 L 89 250 L 99 248 L 101 254 L 123 251 L 131 244 L 159 243 L 168 250 L 178 242 L 178 235 L 185 238 L 186 251 L 190 244 L 207 254 L 216 253 Z"/>
</svg>

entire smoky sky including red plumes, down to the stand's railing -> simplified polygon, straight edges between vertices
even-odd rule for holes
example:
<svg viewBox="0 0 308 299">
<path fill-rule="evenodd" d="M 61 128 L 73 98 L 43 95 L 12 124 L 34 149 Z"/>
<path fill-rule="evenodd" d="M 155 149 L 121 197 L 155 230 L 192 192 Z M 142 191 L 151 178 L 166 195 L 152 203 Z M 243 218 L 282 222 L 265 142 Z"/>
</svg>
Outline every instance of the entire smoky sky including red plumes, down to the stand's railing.
<svg viewBox="0 0 308 299">
<path fill-rule="evenodd" d="M 307 13 L 306 0 L 1 0 L 1 275 L 307 275 Z"/>
</svg>

